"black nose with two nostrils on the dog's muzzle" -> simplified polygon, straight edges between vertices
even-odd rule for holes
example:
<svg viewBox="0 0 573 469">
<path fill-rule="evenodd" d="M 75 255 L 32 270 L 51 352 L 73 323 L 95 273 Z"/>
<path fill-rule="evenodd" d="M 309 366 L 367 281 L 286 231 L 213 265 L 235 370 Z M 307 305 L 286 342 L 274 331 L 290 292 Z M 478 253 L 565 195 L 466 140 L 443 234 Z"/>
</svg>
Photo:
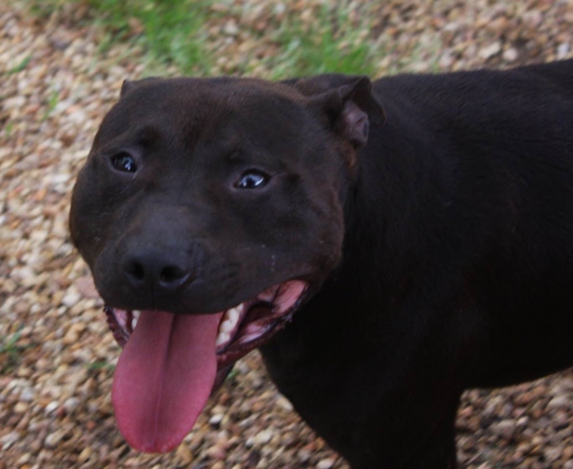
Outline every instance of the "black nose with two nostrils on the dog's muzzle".
<svg viewBox="0 0 573 469">
<path fill-rule="evenodd" d="M 190 262 L 186 255 L 151 250 L 131 253 L 123 262 L 123 274 L 136 289 L 153 291 L 175 290 L 191 278 Z"/>
</svg>

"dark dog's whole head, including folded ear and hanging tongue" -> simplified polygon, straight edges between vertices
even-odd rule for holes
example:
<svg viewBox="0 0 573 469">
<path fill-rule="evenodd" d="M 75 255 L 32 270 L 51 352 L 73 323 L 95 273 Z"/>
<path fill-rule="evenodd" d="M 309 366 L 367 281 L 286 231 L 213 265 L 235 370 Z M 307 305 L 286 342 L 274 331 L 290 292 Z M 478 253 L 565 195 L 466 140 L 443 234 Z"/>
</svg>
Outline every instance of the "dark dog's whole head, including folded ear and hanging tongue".
<svg viewBox="0 0 573 469">
<path fill-rule="evenodd" d="M 366 80 L 333 76 L 124 85 L 70 230 L 125 345 L 113 400 L 132 446 L 176 446 L 228 365 L 340 261 L 370 100 Z"/>
</svg>

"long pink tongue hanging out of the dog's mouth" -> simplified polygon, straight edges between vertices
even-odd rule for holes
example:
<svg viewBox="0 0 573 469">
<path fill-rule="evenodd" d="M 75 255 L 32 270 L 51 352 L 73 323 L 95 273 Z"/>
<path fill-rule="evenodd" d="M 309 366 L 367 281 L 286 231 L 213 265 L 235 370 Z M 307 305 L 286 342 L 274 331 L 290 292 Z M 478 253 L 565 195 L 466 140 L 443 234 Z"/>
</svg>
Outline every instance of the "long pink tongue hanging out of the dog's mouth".
<svg viewBox="0 0 573 469">
<path fill-rule="evenodd" d="M 141 313 L 112 388 L 117 425 L 130 446 L 170 451 L 191 430 L 215 381 L 221 316 Z"/>
</svg>

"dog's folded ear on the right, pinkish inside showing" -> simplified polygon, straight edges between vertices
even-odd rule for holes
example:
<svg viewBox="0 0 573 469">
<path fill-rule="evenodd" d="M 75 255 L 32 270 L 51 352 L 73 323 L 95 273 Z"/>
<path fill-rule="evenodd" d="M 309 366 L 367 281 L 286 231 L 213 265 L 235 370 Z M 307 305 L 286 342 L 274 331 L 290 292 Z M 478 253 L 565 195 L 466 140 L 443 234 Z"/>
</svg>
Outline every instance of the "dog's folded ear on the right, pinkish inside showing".
<svg viewBox="0 0 573 469">
<path fill-rule="evenodd" d="M 325 116 L 331 130 L 355 148 L 366 145 L 371 125 L 382 125 L 386 119 L 367 77 L 327 74 L 285 84 L 308 96 L 309 106 Z"/>
</svg>

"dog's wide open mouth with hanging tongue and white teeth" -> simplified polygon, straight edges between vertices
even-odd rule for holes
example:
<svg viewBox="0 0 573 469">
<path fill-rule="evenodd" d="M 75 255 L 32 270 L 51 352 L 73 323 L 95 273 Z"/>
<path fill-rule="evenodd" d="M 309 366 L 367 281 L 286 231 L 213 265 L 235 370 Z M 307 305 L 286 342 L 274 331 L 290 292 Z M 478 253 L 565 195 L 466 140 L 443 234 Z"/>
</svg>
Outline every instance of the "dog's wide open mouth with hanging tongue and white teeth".
<svg viewBox="0 0 573 469">
<path fill-rule="evenodd" d="M 212 314 L 106 306 L 109 328 L 124 348 L 112 400 L 128 443 L 146 452 L 176 447 L 230 365 L 284 328 L 305 291 L 307 283 L 286 281 Z"/>
</svg>

